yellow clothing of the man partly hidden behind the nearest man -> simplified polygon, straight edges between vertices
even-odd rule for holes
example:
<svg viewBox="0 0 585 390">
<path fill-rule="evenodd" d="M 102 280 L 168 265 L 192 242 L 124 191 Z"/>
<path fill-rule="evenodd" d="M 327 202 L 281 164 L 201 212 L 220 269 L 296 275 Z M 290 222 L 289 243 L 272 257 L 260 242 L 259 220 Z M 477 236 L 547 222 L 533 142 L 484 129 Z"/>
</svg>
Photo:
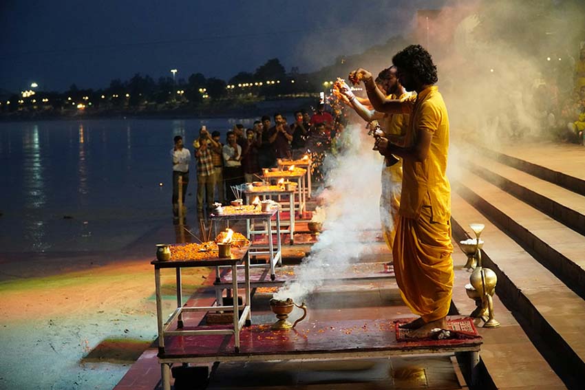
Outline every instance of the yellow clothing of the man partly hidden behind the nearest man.
<svg viewBox="0 0 585 390">
<path fill-rule="evenodd" d="M 414 96 L 406 92 L 401 96 L 391 95 L 390 98 L 405 100 Z M 408 114 L 386 114 L 381 127 L 386 135 L 405 136 L 409 124 Z M 380 219 L 382 233 L 390 250 L 394 246 L 400 194 L 402 192 L 402 160 L 392 166 L 382 166 L 382 193 L 380 195 Z"/>
</svg>

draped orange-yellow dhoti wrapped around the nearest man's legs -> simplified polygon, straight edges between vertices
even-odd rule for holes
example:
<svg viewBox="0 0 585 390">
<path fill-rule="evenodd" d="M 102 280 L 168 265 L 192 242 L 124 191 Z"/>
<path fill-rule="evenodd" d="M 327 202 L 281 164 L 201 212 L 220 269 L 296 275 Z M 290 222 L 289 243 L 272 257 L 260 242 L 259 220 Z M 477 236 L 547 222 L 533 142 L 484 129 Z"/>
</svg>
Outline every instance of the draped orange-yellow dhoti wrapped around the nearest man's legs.
<svg viewBox="0 0 585 390">
<path fill-rule="evenodd" d="M 396 282 L 406 305 L 425 323 L 447 316 L 453 289 L 451 226 L 432 221 L 423 206 L 418 219 L 398 217 L 392 254 Z"/>
</svg>

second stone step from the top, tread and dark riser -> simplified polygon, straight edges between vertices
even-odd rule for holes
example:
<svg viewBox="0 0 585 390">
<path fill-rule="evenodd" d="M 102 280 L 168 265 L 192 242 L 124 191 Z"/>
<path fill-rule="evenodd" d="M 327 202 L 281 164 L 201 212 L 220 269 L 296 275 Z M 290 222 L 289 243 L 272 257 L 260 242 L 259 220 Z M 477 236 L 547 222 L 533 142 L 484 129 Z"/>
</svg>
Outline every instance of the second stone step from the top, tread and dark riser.
<svg viewBox="0 0 585 390">
<path fill-rule="evenodd" d="M 477 153 L 468 156 L 469 171 L 585 235 L 585 196 Z"/>
</svg>

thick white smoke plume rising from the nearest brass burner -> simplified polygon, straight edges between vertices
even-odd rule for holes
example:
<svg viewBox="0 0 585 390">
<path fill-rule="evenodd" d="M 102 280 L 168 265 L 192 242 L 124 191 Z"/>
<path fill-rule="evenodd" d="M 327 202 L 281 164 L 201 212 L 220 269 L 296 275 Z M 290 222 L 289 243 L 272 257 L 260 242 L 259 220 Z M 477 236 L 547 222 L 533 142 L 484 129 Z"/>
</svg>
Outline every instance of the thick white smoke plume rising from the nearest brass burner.
<svg viewBox="0 0 585 390">
<path fill-rule="evenodd" d="M 286 283 L 275 299 L 303 301 L 331 275 L 339 274 L 363 254 L 372 252 L 372 241 L 363 237 L 364 230 L 380 229 L 380 171 L 383 159 L 372 151 L 372 138 L 363 127 L 348 126 L 341 144 L 345 148 L 337 157 L 328 156 L 326 188 L 321 197 L 326 219 L 319 241 L 311 254 L 295 270 L 295 281 Z M 399 185 L 399 184 L 398 184 Z"/>
</svg>

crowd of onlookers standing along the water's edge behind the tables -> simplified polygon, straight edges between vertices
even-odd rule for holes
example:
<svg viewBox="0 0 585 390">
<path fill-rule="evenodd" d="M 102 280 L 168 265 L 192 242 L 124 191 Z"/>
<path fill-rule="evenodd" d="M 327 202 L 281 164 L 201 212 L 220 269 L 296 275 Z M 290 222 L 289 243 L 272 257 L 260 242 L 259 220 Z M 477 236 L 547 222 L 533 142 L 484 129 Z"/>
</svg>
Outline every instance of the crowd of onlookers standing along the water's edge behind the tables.
<svg viewBox="0 0 585 390">
<path fill-rule="evenodd" d="M 273 117 L 262 116 L 253 127 L 246 129 L 235 124 L 221 140 L 219 131 L 209 132 L 205 126 L 193 141 L 197 170 L 197 210 L 211 208 L 214 202 L 235 199 L 232 186 L 262 180 L 262 169 L 277 166 L 278 159 L 301 158 L 315 144 L 327 144 L 337 129 L 333 116 L 319 105 L 310 115 L 307 111 L 295 112 L 287 120 L 282 113 Z M 182 201 L 189 183 L 191 153 L 183 145 L 182 137 L 175 137 L 173 155 L 173 210 L 178 215 L 179 184 L 182 177 Z M 183 202 L 184 203 L 184 202 Z"/>
</svg>

